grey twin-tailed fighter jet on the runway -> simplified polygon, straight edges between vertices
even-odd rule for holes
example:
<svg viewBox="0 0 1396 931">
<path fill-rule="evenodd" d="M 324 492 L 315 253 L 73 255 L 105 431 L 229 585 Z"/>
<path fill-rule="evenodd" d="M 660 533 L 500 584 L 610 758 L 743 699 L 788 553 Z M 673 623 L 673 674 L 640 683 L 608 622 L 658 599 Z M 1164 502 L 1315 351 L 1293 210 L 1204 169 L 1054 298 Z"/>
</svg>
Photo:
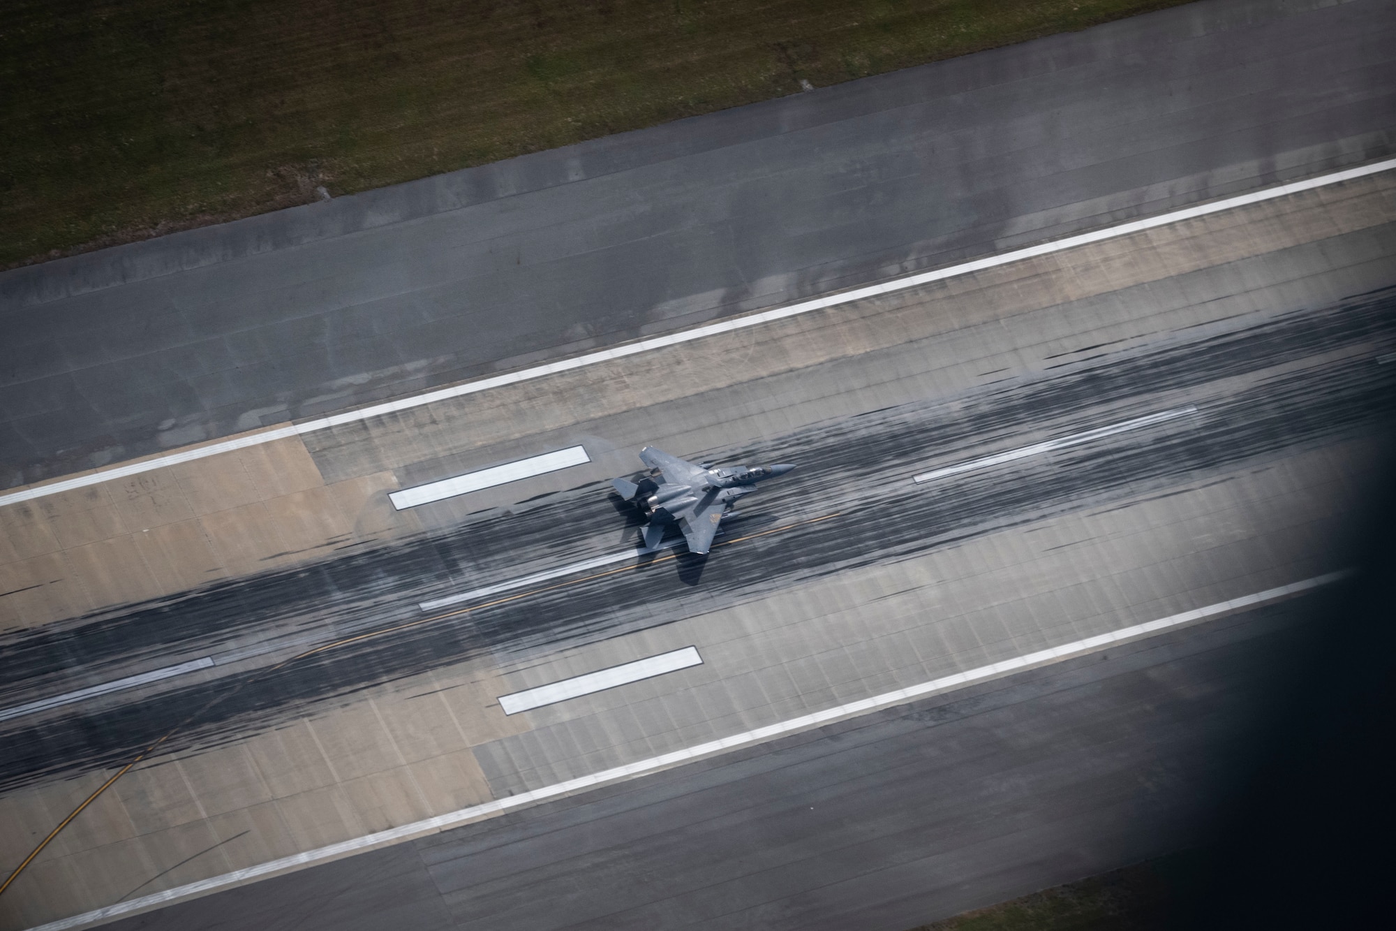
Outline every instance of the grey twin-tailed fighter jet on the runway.
<svg viewBox="0 0 1396 931">
<path fill-rule="evenodd" d="M 688 552 L 705 554 L 718 534 L 718 524 L 732 510 L 733 502 L 757 491 L 755 484 L 785 475 L 794 466 L 726 466 L 690 463 L 653 446 L 639 450 L 639 460 L 651 472 L 638 484 L 627 478 L 611 481 L 625 500 L 649 519 L 645 547 L 653 549 L 664 527 L 678 524 L 688 541 Z"/>
</svg>

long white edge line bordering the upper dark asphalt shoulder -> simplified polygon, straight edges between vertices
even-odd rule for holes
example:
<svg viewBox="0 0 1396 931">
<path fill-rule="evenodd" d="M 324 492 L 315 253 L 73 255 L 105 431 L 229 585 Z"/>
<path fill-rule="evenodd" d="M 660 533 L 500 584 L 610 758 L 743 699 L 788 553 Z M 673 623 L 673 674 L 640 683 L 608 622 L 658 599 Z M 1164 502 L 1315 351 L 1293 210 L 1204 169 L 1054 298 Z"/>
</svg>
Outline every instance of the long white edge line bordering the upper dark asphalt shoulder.
<svg viewBox="0 0 1396 931">
<path fill-rule="evenodd" d="M 343 424 L 356 424 L 359 421 L 367 421 L 376 417 L 384 417 L 387 414 L 406 411 L 415 407 L 422 407 L 424 404 L 434 404 L 437 401 L 463 397 L 466 394 L 477 394 L 480 391 L 489 391 L 491 389 L 503 387 L 505 384 L 517 384 L 519 382 L 530 382 L 533 379 L 544 377 L 549 375 L 557 375 L 560 372 L 571 372 L 572 369 L 582 369 L 589 365 L 596 365 L 599 362 L 610 362 L 613 359 L 625 358 L 627 355 L 637 355 L 639 352 L 648 352 L 651 349 L 660 349 L 670 345 L 678 345 L 681 342 L 691 342 L 694 340 L 702 340 L 711 335 L 718 335 L 720 333 L 732 333 L 734 330 L 744 330 L 747 327 L 755 327 L 764 323 L 772 323 L 775 320 L 785 320 L 786 317 L 800 316 L 803 313 L 810 313 L 812 310 L 822 310 L 825 308 L 833 308 L 843 303 L 853 303 L 856 301 L 863 301 L 867 298 L 895 294 L 898 291 L 906 291 L 909 288 L 916 288 L 923 284 L 930 284 L 933 281 L 956 278 L 959 275 L 972 274 L 974 271 L 983 271 L 986 268 L 995 268 L 998 266 L 1007 266 L 1015 261 L 1022 261 L 1025 259 L 1036 259 L 1039 256 L 1047 256 L 1057 252 L 1065 252 L 1068 249 L 1076 249 L 1078 246 L 1086 246 L 1096 242 L 1117 239 L 1120 236 L 1128 236 L 1136 232 L 1142 232 L 1145 229 L 1154 229 L 1157 226 L 1167 226 L 1170 224 L 1181 222 L 1185 219 L 1208 217 L 1210 214 L 1219 214 L 1228 210 L 1235 210 L 1237 207 L 1247 207 L 1249 204 L 1259 204 L 1268 200 L 1276 200 L 1279 197 L 1287 197 L 1290 194 L 1298 194 L 1307 190 L 1328 187 L 1329 185 L 1340 185 L 1343 182 L 1354 180 L 1358 178 L 1367 178 L 1368 175 L 1378 175 L 1381 172 L 1392 171 L 1393 168 L 1396 168 L 1396 158 L 1372 162 L 1369 165 L 1360 165 L 1357 168 L 1349 168 L 1339 172 L 1329 172 L 1326 175 L 1316 175 L 1314 178 L 1307 178 L 1298 182 L 1290 182 L 1287 185 L 1277 185 L 1275 187 L 1265 187 L 1247 194 L 1238 194 L 1235 197 L 1224 197 L 1222 200 L 1210 201 L 1206 204 L 1198 204 L 1195 207 L 1174 210 L 1167 214 L 1159 214 L 1157 217 L 1134 219 L 1125 224 L 1117 224 L 1114 226 L 1106 226 L 1103 229 L 1096 229 L 1075 236 L 1067 236 L 1064 239 L 1054 239 L 1051 242 L 1039 243 L 1036 246 L 1027 246 L 1025 249 L 1015 249 L 1012 252 L 998 253 L 995 256 L 974 259 L 973 261 L 960 263 L 958 266 L 948 266 L 945 268 L 921 271 L 902 278 L 892 278 L 889 281 L 882 281 L 874 285 L 853 288 L 850 291 L 842 291 L 838 294 L 825 295 L 822 298 L 814 298 L 811 301 L 801 301 L 799 303 L 786 305 L 783 308 L 761 310 L 758 313 L 732 317 L 729 320 L 722 320 L 719 323 L 709 323 L 701 327 L 694 327 L 691 330 L 669 333 L 659 337 L 651 337 L 648 340 L 638 340 L 635 342 L 625 342 L 597 352 L 578 355 L 570 359 L 558 359 L 556 362 L 549 362 L 528 369 L 519 369 L 518 372 L 507 372 L 504 375 L 496 375 L 475 382 L 452 384 L 450 387 L 436 389 L 422 394 L 396 398 L 394 401 L 384 401 L 381 404 L 373 404 L 352 411 L 343 411 L 341 414 L 332 414 L 329 417 L 321 417 L 302 424 L 290 424 L 288 426 L 279 426 L 260 433 L 253 433 L 248 436 L 239 436 L 236 439 L 221 440 L 218 443 L 209 443 L 207 446 L 198 446 L 194 449 L 181 450 L 179 453 L 170 453 L 168 456 L 158 456 L 137 463 L 127 463 L 126 466 L 113 466 L 110 468 L 94 471 L 87 475 L 63 478 L 43 485 L 34 485 L 31 488 L 24 488 L 21 491 L 0 495 L 0 507 L 3 507 L 4 505 L 14 505 L 24 500 L 34 500 L 36 498 L 43 498 L 46 495 L 56 495 L 59 492 L 71 491 L 74 488 L 85 488 L 88 485 L 96 485 L 117 478 L 126 478 L 127 475 L 148 472 L 156 468 L 166 468 L 169 466 L 177 466 L 180 463 L 188 463 L 197 459 L 205 459 L 208 456 L 218 456 L 221 453 L 229 453 L 233 450 L 246 449 L 248 446 L 260 446 L 261 443 L 271 443 L 290 436 L 315 433 L 320 431 L 331 429 L 334 426 L 341 426 Z"/>
</svg>

